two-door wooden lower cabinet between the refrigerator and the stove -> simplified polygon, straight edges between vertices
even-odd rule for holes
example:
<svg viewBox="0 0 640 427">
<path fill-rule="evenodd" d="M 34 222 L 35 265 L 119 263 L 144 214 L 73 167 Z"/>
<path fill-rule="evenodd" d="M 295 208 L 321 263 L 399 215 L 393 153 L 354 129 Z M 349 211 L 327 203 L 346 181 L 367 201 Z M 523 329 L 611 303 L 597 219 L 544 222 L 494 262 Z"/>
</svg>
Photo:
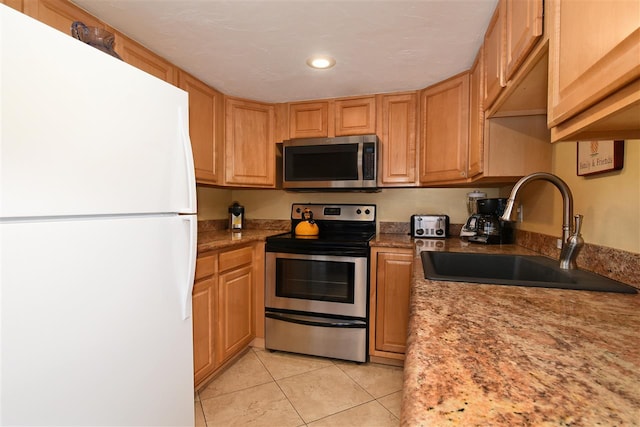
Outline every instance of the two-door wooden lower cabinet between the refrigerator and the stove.
<svg viewBox="0 0 640 427">
<path fill-rule="evenodd" d="M 196 388 L 255 338 L 254 251 L 261 248 L 248 245 L 198 256 L 192 294 Z"/>
</svg>

